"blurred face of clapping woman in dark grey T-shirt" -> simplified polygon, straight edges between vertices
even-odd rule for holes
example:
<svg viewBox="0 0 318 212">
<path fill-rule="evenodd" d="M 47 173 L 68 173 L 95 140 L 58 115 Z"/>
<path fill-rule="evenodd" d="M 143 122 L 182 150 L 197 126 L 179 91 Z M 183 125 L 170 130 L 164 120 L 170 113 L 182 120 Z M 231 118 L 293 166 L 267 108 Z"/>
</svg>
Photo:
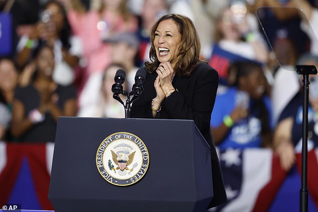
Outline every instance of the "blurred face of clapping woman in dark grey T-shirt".
<svg viewBox="0 0 318 212">
<path fill-rule="evenodd" d="M 54 65 L 55 61 L 53 51 L 48 47 L 41 49 L 37 57 L 39 74 L 45 77 L 52 77 Z"/>
</svg>

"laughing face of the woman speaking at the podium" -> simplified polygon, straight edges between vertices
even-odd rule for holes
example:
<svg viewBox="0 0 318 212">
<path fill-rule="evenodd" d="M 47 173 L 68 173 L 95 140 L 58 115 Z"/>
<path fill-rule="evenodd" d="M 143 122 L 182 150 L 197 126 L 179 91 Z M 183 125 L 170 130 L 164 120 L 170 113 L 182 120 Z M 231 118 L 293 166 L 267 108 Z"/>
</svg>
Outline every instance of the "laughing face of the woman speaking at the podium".
<svg viewBox="0 0 318 212">
<path fill-rule="evenodd" d="M 176 62 L 180 52 L 181 34 L 175 21 L 168 19 L 160 22 L 155 33 L 153 45 L 158 60 Z"/>
</svg>

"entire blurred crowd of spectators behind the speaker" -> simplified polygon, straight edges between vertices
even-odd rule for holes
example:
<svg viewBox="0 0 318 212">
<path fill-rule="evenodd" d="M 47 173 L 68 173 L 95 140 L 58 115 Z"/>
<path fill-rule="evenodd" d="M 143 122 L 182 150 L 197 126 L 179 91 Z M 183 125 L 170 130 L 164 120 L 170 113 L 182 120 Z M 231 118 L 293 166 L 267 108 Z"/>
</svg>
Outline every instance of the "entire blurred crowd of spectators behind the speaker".
<svg viewBox="0 0 318 212">
<path fill-rule="evenodd" d="M 301 10 L 298 10 L 298 9 Z M 201 59 L 219 73 L 216 145 L 273 148 L 286 169 L 301 149 L 302 76 L 318 66 L 315 0 L 0 0 L 0 140 L 55 140 L 59 116 L 124 117 L 116 70 L 130 91 L 162 15 L 195 24 Z M 9 39 L 8 39 L 9 38 Z M 318 83 L 310 76 L 309 149 L 318 146 Z"/>
</svg>

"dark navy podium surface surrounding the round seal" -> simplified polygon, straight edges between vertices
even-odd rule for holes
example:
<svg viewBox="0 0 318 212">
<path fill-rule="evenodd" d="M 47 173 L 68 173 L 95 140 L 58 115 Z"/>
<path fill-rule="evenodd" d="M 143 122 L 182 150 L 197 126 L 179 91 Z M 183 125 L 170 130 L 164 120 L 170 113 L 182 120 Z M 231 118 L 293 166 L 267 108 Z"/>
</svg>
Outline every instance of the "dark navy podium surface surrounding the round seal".
<svg viewBox="0 0 318 212">
<path fill-rule="evenodd" d="M 105 180 L 96 159 L 117 132 L 137 136 L 148 151 L 146 172 L 125 186 Z M 210 155 L 193 120 L 59 117 L 49 199 L 56 212 L 206 211 L 214 195 Z"/>
</svg>

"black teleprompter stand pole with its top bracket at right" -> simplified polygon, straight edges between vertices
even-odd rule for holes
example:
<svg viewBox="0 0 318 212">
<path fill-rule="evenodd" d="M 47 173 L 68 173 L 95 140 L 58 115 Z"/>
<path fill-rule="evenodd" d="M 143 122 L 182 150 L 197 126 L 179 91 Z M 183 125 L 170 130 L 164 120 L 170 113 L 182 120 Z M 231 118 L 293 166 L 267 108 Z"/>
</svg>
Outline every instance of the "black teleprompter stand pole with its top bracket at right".
<svg viewBox="0 0 318 212">
<path fill-rule="evenodd" d="M 296 66 L 297 74 L 303 76 L 303 104 L 302 104 L 302 149 L 301 149 L 301 188 L 300 207 L 301 212 L 308 211 L 308 188 L 307 188 L 307 139 L 308 139 L 308 94 L 309 74 L 317 74 L 315 66 Z"/>
</svg>

